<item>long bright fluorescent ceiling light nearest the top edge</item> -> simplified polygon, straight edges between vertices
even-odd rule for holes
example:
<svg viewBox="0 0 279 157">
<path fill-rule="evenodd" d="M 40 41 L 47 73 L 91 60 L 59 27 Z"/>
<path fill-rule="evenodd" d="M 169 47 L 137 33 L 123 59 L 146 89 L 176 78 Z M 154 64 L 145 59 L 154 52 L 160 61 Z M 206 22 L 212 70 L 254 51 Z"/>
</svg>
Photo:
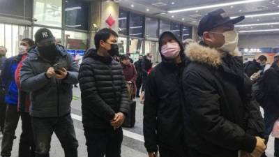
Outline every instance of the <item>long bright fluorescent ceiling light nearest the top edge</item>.
<svg viewBox="0 0 279 157">
<path fill-rule="evenodd" d="M 266 1 L 266 0 L 234 1 L 234 2 L 228 2 L 228 3 L 218 3 L 218 4 L 213 4 L 213 5 L 206 5 L 206 6 L 197 6 L 197 7 L 193 7 L 193 8 L 169 10 L 167 12 L 168 13 L 179 13 L 179 12 L 191 11 L 191 10 L 202 10 L 202 9 L 206 9 L 206 8 L 219 8 L 219 7 L 222 7 L 222 6 L 233 6 L 233 5 L 243 4 L 243 3 L 254 3 L 254 2 L 257 2 L 257 1 Z"/>
</svg>

